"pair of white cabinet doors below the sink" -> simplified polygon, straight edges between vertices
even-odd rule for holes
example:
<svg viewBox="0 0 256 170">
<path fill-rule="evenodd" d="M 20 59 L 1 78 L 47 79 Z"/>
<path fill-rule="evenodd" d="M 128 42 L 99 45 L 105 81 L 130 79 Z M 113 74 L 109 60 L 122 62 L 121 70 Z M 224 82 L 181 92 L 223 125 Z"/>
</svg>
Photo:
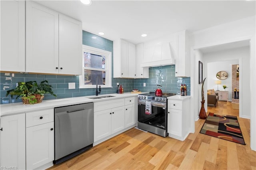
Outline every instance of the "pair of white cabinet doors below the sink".
<svg viewBox="0 0 256 170">
<path fill-rule="evenodd" d="M 124 129 L 124 106 L 94 113 L 94 142 Z"/>
</svg>

